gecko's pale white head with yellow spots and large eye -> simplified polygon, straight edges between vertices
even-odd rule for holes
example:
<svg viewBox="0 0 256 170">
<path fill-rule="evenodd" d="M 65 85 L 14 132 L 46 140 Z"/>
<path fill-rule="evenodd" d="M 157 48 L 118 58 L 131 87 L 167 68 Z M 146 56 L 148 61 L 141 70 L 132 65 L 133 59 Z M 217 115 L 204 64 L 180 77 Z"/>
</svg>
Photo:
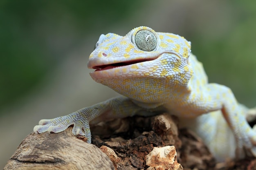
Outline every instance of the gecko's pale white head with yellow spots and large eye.
<svg viewBox="0 0 256 170">
<path fill-rule="evenodd" d="M 186 88 L 192 69 L 190 42 L 172 33 L 157 33 L 146 26 L 125 36 L 101 35 L 88 68 L 96 82 L 140 102 L 163 102 Z"/>
</svg>

